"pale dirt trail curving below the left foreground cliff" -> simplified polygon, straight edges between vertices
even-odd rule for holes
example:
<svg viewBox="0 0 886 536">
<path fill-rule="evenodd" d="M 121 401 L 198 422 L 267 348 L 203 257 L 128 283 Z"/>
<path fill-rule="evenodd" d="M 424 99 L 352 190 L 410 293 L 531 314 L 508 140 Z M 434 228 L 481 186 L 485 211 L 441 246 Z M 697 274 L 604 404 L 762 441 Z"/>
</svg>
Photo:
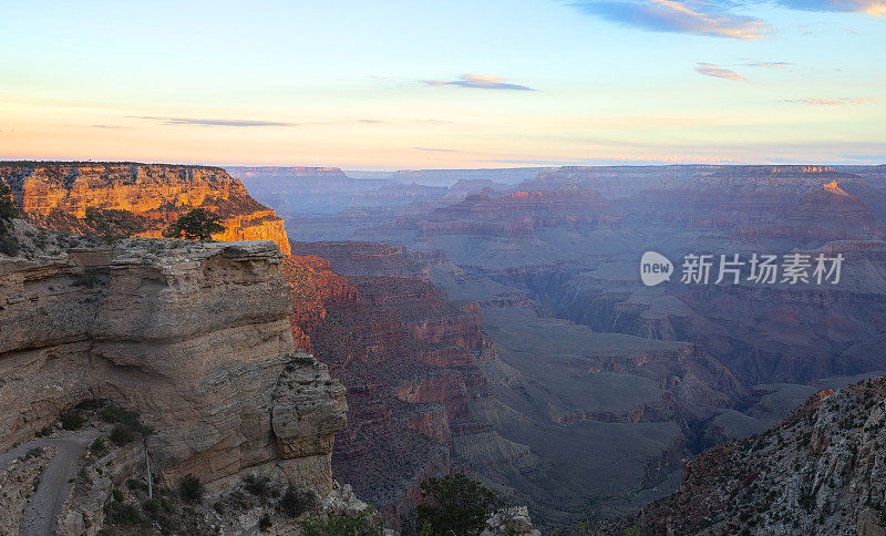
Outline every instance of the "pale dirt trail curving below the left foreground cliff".
<svg viewBox="0 0 886 536">
<path fill-rule="evenodd" d="M 9 462 L 30 449 L 49 445 L 56 449 L 55 456 L 40 475 L 37 493 L 28 502 L 28 508 L 19 530 L 20 536 L 52 536 L 55 534 L 55 520 L 73 487 L 69 481 L 74 476 L 80 455 L 96 435 L 93 431 L 83 431 L 59 437 L 42 437 L 0 454 L 0 471 L 3 471 Z"/>
</svg>

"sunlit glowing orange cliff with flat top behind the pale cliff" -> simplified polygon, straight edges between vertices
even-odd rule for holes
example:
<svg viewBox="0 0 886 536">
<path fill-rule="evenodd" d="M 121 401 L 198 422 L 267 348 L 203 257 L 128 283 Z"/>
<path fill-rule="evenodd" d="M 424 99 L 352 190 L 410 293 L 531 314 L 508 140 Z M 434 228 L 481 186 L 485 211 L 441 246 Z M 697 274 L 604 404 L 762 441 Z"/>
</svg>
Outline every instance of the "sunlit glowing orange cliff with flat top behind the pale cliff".
<svg viewBox="0 0 886 536">
<path fill-rule="evenodd" d="M 16 205 L 38 227 L 101 233 L 101 212 L 120 210 L 130 234 L 159 237 L 178 216 L 203 207 L 225 226 L 214 239 L 272 240 L 289 254 L 282 219 L 219 167 L 12 162 L 0 165 L 0 181 L 12 187 Z"/>
</svg>

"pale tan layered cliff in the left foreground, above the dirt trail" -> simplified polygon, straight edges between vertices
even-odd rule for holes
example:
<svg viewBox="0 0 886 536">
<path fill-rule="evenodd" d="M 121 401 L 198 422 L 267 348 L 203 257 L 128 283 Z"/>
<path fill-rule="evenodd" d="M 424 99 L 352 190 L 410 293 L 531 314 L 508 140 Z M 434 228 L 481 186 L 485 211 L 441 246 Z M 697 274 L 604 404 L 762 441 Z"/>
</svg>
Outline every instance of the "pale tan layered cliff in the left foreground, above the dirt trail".
<svg viewBox="0 0 886 536">
<path fill-rule="evenodd" d="M 249 471 L 332 488 L 344 389 L 293 352 L 277 246 L 48 239 L 38 258 L 0 257 L 0 451 L 110 399 L 155 429 L 147 447 L 167 483 Z"/>
</svg>

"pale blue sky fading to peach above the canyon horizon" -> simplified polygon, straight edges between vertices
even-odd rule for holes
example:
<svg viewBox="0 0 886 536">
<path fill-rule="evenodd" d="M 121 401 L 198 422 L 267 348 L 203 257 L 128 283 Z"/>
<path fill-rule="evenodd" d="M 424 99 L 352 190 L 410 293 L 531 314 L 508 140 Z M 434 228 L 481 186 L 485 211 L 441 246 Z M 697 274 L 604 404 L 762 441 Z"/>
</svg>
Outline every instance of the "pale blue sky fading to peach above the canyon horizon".
<svg viewBox="0 0 886 536">
<path fill-rule="evenodd" d="M 886 163 L 886 0 L 0 0 L 0 159 Z"/>
</svg>

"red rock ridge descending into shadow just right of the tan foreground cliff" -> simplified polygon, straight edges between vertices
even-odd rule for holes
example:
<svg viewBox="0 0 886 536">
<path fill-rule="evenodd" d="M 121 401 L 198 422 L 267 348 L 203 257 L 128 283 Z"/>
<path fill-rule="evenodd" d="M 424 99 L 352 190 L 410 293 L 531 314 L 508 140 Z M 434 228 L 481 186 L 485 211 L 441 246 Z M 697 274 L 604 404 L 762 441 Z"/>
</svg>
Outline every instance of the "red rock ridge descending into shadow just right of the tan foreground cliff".
<svg viewBox="0 0 886 536">
<path fill-rule="evenodd" d="M 490 395 L 476 363 L 495 357 L 478 308 L 449 302 L 421 279 L 346 279 L 318 257 L 290 257 L 282 270 L 293 332 L 348 388 L 350 425 L 336 440 L 334 474 L 396 520 L 422 480 L 449 472 L 453 436 L 491 430 L 470 425 L 470 401 Z"/>
</svg>

